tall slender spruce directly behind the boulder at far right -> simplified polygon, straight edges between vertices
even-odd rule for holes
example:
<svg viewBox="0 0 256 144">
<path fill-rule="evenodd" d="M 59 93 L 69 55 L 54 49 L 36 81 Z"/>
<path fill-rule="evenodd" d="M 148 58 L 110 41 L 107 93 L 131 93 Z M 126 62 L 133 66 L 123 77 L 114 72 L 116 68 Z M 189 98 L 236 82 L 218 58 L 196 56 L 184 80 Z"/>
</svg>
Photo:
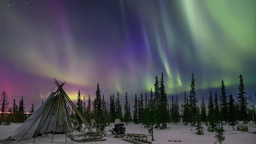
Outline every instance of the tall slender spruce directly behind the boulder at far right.
<svg viewBox="0 0 256 144">
<path fill-rule="evenodd" d="M 247 93 L 244 91 L 244 79 L 241 74 L 239 76 L 239 79 L 240 79 L 239 80 L 240 84 L 238 86 L 239 94 L 238 94 L 237 100 L 239 104 L 239 111 L 242 116 L 241 120 L 244 122 L 244 124 L 247 124 L 248 103 L 245 97 L 245 94 Z"/>
</svg>

